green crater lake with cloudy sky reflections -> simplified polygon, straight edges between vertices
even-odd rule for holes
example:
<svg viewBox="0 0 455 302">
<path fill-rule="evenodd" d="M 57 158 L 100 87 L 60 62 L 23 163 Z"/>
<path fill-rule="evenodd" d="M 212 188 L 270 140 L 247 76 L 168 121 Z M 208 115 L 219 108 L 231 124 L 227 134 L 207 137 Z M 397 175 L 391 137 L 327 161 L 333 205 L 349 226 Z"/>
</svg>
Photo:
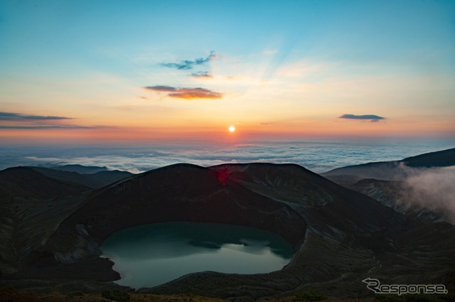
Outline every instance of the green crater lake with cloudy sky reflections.
<svg viewBox="0 0 455 302">
<path fill-rule="evenodd" d="M 257 274 L 277 271 L 294 251 L 277 234 L 252 227 L 197 222 L 163 222 L 115 232 L 102 244 L 132 288 L 164 284 L 198 271 Z"/>
</svg>

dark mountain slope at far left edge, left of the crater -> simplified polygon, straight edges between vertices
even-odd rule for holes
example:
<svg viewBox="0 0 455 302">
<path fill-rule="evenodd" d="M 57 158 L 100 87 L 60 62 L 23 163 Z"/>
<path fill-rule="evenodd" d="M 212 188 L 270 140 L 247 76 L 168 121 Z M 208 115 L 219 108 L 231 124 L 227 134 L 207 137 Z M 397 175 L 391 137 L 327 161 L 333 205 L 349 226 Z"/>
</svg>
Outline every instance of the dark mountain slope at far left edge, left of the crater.
<svg viewBox="0 0 455 302">
<path fill-rule="evenodd" d="M 0 171 L 0 272 L 35 264 L 35 254 L 87 191 L 32 168 Z"/>
</svg>

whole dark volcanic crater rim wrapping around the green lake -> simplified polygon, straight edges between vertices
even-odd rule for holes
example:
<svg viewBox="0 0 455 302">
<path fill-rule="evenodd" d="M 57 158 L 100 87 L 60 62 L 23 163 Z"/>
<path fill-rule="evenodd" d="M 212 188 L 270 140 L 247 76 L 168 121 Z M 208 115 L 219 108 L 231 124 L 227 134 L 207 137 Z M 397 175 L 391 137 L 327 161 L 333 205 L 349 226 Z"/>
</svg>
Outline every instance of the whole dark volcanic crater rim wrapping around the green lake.
<svg viewBox="0 0 455 302">
<path fill-rule="evenodd" d="M 259 227 L 281 234 L 296 249 L 282 271 L 251 276 L 205 272 L 152 290 L 257 298 L 309 280 L 338 278 L 340 271 L 368 271 L 375 265 L 373 250 L 390 248 L 385 231 L 399 225 L 399 218 L 375 200 L 296 165 L 180 164 L 92 193 L 60 224 L 46 249 L 62 263 L 77 263 L 98 256 L 97 247 L 109 234 L 133 225 L 193 221 Z M 245 290 L 232 291 L 240 286 Z"/>
</svg>

